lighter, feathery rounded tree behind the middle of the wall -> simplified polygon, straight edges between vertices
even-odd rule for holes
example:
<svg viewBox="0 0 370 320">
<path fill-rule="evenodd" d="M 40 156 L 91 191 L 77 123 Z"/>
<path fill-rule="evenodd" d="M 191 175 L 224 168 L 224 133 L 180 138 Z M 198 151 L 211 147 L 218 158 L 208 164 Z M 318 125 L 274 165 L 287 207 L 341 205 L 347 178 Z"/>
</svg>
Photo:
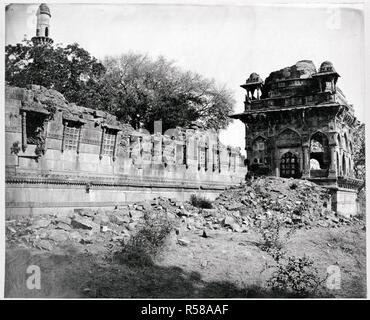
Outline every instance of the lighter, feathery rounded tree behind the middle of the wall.
<svg viewBox="0 0 370 320">
<path fill-rule="evenodd" d="M 214 80 L 182 71 L 173 61 L 128 53 L 106 58 L 103 64 L 103 87 L 110 92 L 102 107 L 135 127 L 141 123 L 152 130 L 159 119 L 164 130 L 194 123 L 204 129 L 223 129 L 230 122 L 231 92 L 218 88 Z"/>
</svg>

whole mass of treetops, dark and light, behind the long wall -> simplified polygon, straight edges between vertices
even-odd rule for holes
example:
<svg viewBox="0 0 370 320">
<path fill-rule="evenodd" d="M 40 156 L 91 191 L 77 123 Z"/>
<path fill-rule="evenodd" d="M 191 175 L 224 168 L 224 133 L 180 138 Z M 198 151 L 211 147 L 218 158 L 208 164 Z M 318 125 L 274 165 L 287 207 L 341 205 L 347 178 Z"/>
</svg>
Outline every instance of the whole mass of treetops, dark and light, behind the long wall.
<svg viewBox="0 0 370 320">
<path fill-rule="evenodd" d="M 134 127 L 164 130 L 197 124 L 224 129 L 235 103 L 232 93 L 197 73 L 183 71 L 164 57 L 128 53 L 103 63 L 78 44 L 6 46 L 6 82 L 39 84 L 78 105 L 105 110 Z"/>
</svg>

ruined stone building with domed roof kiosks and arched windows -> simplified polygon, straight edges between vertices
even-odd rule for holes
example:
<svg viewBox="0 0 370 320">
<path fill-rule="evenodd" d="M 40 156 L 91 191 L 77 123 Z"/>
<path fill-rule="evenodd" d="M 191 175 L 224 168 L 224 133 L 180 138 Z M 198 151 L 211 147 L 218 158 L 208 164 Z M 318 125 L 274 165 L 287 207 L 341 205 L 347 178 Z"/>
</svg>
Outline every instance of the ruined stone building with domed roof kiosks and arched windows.
<svg viewBox="0 0 370 320">
<path fill-rule="evenodd" d="M 339 74 L 326 61 L 319 71 L 303 60 L 272 72 L 265 81 L 252 73 L 245 110 L 233 115 L 245 124 L 248 168 L 254 174 L 305 178 L 332 190 L 333 209 L 357 213 L 352 105 L 337 86 Z"/>
</svg>

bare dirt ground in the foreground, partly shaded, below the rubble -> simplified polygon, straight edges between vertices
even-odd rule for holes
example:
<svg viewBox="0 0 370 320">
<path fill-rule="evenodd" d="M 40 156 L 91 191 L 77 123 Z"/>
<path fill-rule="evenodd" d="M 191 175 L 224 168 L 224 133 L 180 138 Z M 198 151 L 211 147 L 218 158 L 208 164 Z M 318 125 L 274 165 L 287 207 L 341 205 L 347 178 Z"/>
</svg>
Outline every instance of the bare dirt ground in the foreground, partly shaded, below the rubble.
<svg viewBox="0 0 370 320">
<path fill-rule="evenodd" d="M 125 264 L 113 259 L 106 244 L 65 242 L 53 253 L 7 248 L 6 297 L 28 298 L 253 298 L 269 297 L 266 280 L 271 257 L 260 249 L 261 239 L 250 230 L 181 230 L 187 245 L 172 235 L 152 264 Z M 334 298 L 366 296 L 365 230 L 361 226 L 300 229 L 286 249 L 307 255 L 324 278 L 330 265 L 340 268 L 341 289 Z M 26 286 L 27 267 L 41 270 L 41 288 Z"/>
</svg>

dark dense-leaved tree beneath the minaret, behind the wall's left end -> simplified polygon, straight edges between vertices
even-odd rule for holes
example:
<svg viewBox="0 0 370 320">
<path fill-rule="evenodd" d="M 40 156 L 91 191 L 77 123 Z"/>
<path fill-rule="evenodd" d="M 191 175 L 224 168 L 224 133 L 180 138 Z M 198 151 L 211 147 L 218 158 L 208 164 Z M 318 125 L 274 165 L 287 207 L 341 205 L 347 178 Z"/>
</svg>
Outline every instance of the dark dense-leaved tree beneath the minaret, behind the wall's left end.
<svg viewBox="0 0 370 320">
<path fill-rule="evenodd" d="M 5 81 L 9 85 L 53 88 L 82 106 L 104 71 L 104 66 L 76 43 L 54 47 L 26 41 L 5 47 Z"/>
</svg>

